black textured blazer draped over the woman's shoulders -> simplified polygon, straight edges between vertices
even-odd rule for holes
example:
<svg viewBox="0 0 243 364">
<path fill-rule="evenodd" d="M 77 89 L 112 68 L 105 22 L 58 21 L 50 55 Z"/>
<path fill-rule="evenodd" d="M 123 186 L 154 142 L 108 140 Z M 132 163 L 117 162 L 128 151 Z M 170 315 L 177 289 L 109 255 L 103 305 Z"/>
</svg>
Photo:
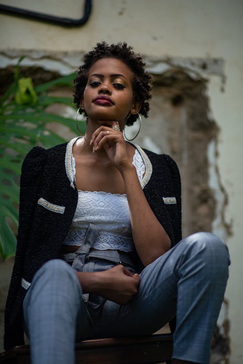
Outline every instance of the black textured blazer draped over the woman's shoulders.
<svg viewBox="0 0 243 364">
<path fill-rule="evenodd" d="M 22 302 L 35 272 L 47 261 L 62 258 L 62 243 L 78 200 L 70 173 L 72 145 L 73 140 L 47 150 L 35 147 L 22 165 L 17 250 L 5 309 L 5 350 L 24 343 Z M 174 246 L 181 240 L 177 165 L 168 155 L 137 148 L 149 171 L 145 197 Z"/>
</svg>

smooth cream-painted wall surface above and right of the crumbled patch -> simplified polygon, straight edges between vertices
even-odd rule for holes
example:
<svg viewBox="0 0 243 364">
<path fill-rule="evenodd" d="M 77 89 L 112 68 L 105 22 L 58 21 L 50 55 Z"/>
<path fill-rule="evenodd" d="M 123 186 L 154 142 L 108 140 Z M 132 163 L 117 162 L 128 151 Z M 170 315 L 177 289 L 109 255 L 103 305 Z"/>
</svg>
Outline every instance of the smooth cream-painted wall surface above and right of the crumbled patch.
<svg viewBox="0 0 243 364">
<path fill-rule="evenodd" d="M 30 0 L 1 0 L 4 2 L 29 9 L 37 6 Z M 79 17 L 80 3 L 52 0 L 39 1 L 38 6 L 43 12 Z M 242 0 L 93 0 L 87 25 L 73 29 L 0 15 L 2 50 L 86 51 L 104 39 L 108 43 L 127 41 L 136 51 L 161 59 L 223 58 L 225 92 L 221 91 L 220 77 L 209 76 L 208 96 L 212 116 L 220 127 L 217 163 L 228 195 L 226 220 L 233 226 L 233 234 L 226 241 L 232 260 L 226 291 L 231 364 L 243 362 L 242 35 Z"/>
</svg>

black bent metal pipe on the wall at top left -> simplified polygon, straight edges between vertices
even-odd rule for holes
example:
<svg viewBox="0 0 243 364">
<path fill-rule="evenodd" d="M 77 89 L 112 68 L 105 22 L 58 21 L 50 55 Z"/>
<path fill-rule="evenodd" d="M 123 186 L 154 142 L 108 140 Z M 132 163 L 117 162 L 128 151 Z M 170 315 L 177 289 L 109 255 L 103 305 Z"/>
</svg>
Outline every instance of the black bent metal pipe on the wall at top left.
<svg viewBox="0 0 243 364">
<path fill-rule="evenodd" d="M 45 13 L 39 13 L 31 10 L 26 10 L 22 8 L 17 8 L 14 6 L 2 5 L 0 4 L 0 13 L 14 15 L 17 17 L 25 17 L 31 20 L 43 21 L 45 23 L 51 23 L 55 25 L 61 25 L 63 27 L 80 27 L 84 25 L 91 13 L 92 2 L 91 0 L 85 1 L 84 6 L 84 16 L 80 19 L 70 19 L 67 17 L 55 17 Z"/>
</svg>

